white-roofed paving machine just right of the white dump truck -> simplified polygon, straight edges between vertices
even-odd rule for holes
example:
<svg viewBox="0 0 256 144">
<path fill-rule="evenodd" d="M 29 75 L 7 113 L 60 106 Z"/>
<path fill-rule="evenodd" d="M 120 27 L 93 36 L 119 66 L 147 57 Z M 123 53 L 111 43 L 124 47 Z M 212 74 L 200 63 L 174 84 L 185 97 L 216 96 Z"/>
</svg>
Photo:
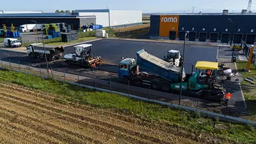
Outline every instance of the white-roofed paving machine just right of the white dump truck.
<svg viewBox="0 0 256 144">
<path fill-rule="evenodd" d="M 100 56 L 92 56 L 92 44 L 81 44 L 74 46 L 76 52 L 65 54 L 64 58 L 67 63 L 81 65 L 82 67 L 95 67 L 101 65 L 102 58 Z"/>
</svg>

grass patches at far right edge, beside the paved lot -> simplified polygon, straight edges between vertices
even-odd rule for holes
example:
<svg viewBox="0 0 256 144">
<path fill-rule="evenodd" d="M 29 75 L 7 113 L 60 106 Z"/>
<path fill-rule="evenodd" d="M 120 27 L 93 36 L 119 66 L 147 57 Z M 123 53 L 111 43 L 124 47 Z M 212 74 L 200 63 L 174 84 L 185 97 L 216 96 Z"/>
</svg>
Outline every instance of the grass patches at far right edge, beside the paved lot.
<svg viewBox="0 0 256 144">
<path fill-rule="evenodd" d="M 256 76 L 256 65 L 251 65 L 251 72 L 244 72 L 244 68 L 247 67 L 247 61 L 237 61 L 237 69 L 243 74 L 244 78 Z M 244 99 L 246 100 L 246 106 L 250 112 L 252 112 L 252 120 L 256 121 L 256 86 L 255 84 L 250 84 L 247 81 L 241 83 Z M 254 96 L 253 96 L 254 95 Z"/>
</svg>

